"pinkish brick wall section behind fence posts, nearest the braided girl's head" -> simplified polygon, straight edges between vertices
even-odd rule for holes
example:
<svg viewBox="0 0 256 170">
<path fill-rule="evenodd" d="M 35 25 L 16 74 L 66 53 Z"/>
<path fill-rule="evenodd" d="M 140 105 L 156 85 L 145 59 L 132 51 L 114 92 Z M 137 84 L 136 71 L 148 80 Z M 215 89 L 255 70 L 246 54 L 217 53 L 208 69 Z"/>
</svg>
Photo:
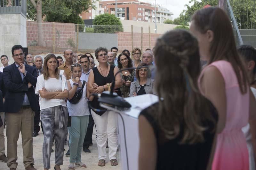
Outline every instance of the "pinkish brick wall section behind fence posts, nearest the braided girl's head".
<svg viewBox="0 0 256 170">
<path fill-rule="evenodd" d="M 152 49 L 155 46 L 156 39 L 162 34 L 151 33 L 151 44 Z M 124 49 L 128 49 L 132 52 L 132 33 L 118 32 L 118 51 L 122 52 Z M 142 35 L 142 51 L 149 48 L 149 34 L 143 33 Z M 133 33 L 133 48 L 141 48 L 141 33 Z"/>
</svg>

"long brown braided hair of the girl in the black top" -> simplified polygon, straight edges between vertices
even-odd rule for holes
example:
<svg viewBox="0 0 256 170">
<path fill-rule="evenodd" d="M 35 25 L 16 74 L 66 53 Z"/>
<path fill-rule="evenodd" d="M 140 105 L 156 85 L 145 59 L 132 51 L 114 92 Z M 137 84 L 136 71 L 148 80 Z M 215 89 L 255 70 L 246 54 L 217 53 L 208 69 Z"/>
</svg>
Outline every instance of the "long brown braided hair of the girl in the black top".
<svg viewBox="0 0 256 170">
<path fill-rule="evenodd" d="M 185 30 L 169 31 L 157 39 L 154 56 L 159 95 L 154 113 L 160 129 L 167 139 L 182 134 L 180 143 L 203 142 L 209 128 L 203 122 L 215 127 L 216 121 L 197 86 L 201 67 L 196 38 Z"/>
</svg>

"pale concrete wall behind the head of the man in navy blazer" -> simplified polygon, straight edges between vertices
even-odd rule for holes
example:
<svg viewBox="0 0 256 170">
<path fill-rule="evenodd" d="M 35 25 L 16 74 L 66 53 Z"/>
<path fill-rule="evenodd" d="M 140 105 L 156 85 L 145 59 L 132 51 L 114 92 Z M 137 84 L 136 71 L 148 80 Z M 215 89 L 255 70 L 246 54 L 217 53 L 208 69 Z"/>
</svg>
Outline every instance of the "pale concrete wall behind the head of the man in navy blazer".
<svg viewBox="0 0 256 170">
<path fill-rule="evenodd" d="M 27 47 L 26 18 L 21 14 L 0 15 L 0 55 L 7 55 L 9 64 L 13 63 L 12 46 L 20 44 Z M 0 63 L 2 66 L 2 63 Z"/>
</svg>

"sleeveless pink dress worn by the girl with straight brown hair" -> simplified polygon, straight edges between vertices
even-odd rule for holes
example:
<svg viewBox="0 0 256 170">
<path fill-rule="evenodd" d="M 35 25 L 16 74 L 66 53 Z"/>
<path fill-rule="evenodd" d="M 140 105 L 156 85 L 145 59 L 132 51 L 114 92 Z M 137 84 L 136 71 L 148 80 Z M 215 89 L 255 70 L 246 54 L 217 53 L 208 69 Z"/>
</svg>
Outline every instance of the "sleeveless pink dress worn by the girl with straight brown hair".
<svg viewBox="0 0 256 170">
<path fill-rule="evenodd" d="M 232 65 L 220 60 L 203 69 L 198 79 L 199 88 L 204 70 L 210 66 L 215 66 L 222 74 L 227 97 L 226 125 L 217 136 L 212 170 L 248 170 L 248 150 L 242 128 L 249 119 L 249 86 L 248 92 L 242 94 Z"/>
</svg>

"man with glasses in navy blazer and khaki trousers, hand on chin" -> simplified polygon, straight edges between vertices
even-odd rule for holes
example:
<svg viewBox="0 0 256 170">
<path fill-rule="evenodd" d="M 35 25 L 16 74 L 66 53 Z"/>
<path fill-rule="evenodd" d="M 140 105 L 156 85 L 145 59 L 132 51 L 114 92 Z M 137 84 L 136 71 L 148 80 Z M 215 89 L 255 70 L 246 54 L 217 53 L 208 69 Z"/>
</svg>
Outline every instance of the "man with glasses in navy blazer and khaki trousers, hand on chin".
<svg viewBox="0 0 256 170">
<path fill-rule="evenodd" d="M 7 137 L 7 166 L 16 170 L 17 141 L 22 135 L 23 163 L 26 170 L 36 170 L 33 166 L 33 129 L 36 110 L 36 68 L 25 65 L 21 45 L 12 47 L 14 63 L 4 68 L 6 88 L 4 111 Z"/>
</svg>

